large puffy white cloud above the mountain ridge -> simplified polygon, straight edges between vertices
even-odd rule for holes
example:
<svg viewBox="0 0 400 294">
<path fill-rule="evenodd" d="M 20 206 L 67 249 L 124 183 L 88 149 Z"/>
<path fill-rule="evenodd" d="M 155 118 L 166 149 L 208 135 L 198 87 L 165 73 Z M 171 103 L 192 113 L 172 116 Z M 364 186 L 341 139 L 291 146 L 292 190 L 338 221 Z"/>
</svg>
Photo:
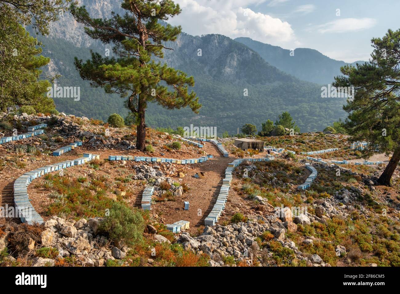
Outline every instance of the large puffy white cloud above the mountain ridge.
<svg viewBox="0 0 400 294">
<path fill-rule="evenodd" d="M 282 2 L 282 0 L 279 0 Z M 184 32 L 192 35 L 223 34 L 231 38 L 250 37 L 260 42 L 285 46 L 296 42 L 288 22 L 268 14 L 243 8 L 266 0 L 176 0 L 182 13 L 168 22 L 180 24 Z M 271 2 L 269 2 L 271 3 Z"/>
</svg>

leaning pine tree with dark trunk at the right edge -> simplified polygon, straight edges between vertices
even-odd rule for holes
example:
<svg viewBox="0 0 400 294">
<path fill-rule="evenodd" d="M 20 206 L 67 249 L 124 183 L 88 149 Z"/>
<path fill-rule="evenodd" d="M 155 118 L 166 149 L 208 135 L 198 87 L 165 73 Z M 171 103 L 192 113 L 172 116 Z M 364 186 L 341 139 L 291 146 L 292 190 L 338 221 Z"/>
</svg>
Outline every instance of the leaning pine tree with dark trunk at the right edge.
<svg viewBox="0 0 400 294">
<path fill-rule="evenodd" d="M 370 62 L 341 68 L 336 87 L 354 87 L 354 97 L 343 107 L 348 112 L 346 129 L 354 141 L 370 144 L 364 156 L 392 154 L 378 182 L 390 186 L 400 161 L 400 30 L 388 30 L 383 38 L 371 40 Z"/>
</svg>

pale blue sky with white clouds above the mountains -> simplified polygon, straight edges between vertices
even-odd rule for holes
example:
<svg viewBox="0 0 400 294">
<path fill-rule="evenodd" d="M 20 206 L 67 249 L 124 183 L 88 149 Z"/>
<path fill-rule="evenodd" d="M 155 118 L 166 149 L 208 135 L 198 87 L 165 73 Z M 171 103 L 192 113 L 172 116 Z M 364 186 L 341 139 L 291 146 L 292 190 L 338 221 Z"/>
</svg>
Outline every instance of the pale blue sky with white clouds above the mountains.
<svg viewBox="0 0 400 294">
<path fill-rule="evenodd" d="M 330 58 L 368 60 L 370 40 L 400 28 L 398 0 L 175 0 L 168 22 L 193 35 L 249 37 L 285 49 L 312 48 Z M 339 9 L 339 10 L 338 10 Z"/>
</svg>

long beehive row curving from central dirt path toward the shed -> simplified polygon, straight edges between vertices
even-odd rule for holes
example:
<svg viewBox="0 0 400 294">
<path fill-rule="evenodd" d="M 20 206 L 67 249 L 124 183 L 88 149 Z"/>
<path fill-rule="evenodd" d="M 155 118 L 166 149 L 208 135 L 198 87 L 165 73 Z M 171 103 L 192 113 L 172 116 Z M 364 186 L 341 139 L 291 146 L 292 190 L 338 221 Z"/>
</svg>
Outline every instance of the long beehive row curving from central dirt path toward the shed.
<svg viewBox="0 0 400 294">
<path fill-rule="evenodd" d="M 218 222 L 222 211 L 225 209 L 225 204 L 228 198 L 228 193 L 230 190 L 230 182 L 232 181 L 232 171 L 236 166 L 241 164 L 243 161 L 248 160 L 252 162 L 262 162 L 262 161 L 270 161 L 274 160 L 274 157 L 270 158 L 242 158 L 235 159 L 233 162 L 228 164 L 228 167 L 225 170 L 225 178 L 222 180 L 222 186 L 220 188 L 220 192 L 217 196 L 217 200 L 208 214 L 208 216 L 204 219 L 204 224 L 206 226 L 214 226 L 216 222 Z"/>
</svg>

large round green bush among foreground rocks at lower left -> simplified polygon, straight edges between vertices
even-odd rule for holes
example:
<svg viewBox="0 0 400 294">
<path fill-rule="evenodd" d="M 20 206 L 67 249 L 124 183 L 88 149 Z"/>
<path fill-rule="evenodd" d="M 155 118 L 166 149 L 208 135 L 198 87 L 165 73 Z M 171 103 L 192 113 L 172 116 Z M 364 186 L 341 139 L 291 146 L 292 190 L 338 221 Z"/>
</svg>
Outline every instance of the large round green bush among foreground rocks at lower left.
<svg viewBox="0 0 400 294">
<path fill-rule="evenodd" d="M 100 223 L 100 230 L 112 240 L 122 240 L 128 245 L 134 245 L 142 241 L 144 219 L 137 208 L 128 208 L 122 203 L 114 202 L 110 215 Z"/>
</svg>

